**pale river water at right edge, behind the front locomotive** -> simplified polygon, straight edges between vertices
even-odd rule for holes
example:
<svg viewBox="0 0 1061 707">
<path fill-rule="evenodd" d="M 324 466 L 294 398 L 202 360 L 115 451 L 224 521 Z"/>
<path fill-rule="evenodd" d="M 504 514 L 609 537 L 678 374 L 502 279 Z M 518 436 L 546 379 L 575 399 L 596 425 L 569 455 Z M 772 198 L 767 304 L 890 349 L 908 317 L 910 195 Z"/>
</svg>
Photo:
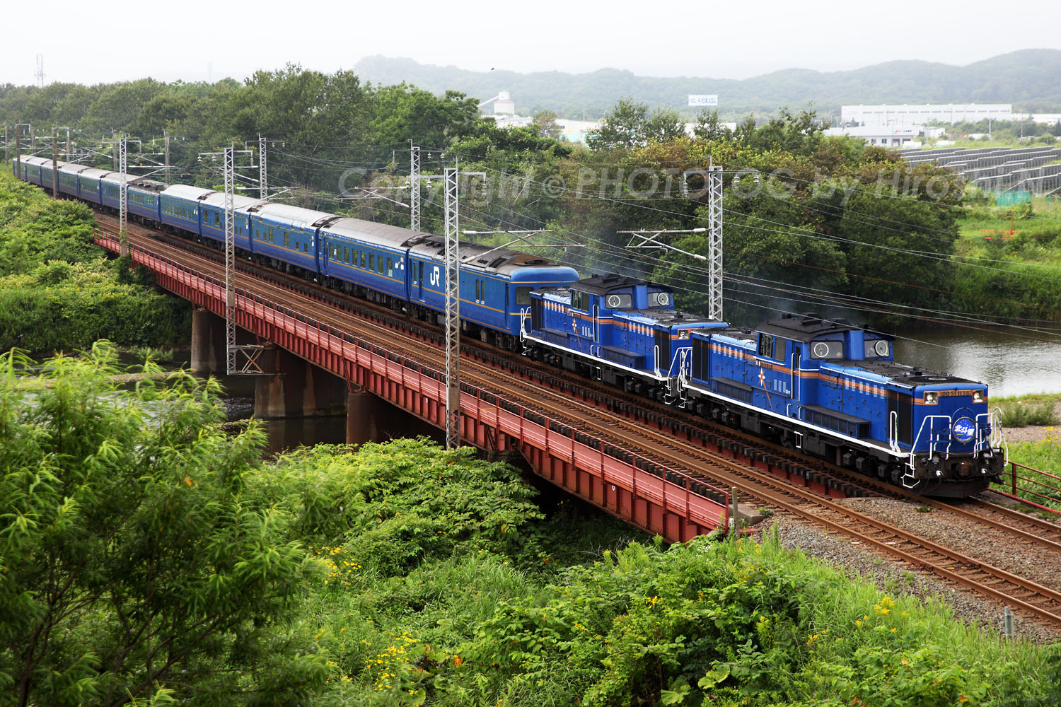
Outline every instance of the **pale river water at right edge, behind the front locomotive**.
<svg viewBox="0 0 1061 707">
<path fill-rule="evenodd" d="M 988 384 L 992 396 L 1061 392 L 1061 336 L 1016 329 L 900 330 L 895 360 Z M 1030 338 L 1021 338 L 1030 337 Z M 912 339 L 912 340 L 911 340 Z"/>
</svg>

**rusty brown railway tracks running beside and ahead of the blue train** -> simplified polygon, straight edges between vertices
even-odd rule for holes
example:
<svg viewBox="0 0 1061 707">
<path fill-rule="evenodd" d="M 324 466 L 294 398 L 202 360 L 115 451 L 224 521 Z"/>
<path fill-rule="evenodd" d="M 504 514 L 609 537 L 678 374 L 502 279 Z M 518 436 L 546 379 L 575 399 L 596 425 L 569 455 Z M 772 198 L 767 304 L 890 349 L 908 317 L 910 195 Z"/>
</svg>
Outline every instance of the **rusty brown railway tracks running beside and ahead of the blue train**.
<svg viewBox="0 0 1061 707">
<path fill-rule="evenodd" d="M 112 226 L 107 228 L 105 225 L 104 229 L 114 232 Z M 143 230 L 151 233 L 147 229 Z M 159 243 L 147 233 L 131 234 L 131 241 L 170 258 L 174 255 L 172 249 L 176 248 Z M 171 249 L 169 253 L 163 252 L 167 249 Z M 181 260 L 193 261 L 192 266 L 204 275 L 215 279 L 223 278 L 223 266 L 216 262 L 215 251 L 210 254 L 196 254 L 188 247 L 181 247 L 180 251 Z M 241 286 L 246 284 L 242 283 Z M 296 311 L 316 312 L 317 307 L 314 305 L 320 301 L 319 297 L 296 291 L 290 283 L 279 284 L 258 280 L 254 288 L 263 298 Z M 434 346 L 440 337 L 431 328 L 414 324 L 412 333 L 402 332 L 380 313 L 377 313 L 375 319 L 365 319 L 362 314 L 343 310 L 330 310 L 318 318 L 321 323 L 347 330 L 368 340 L 377 339 L 381 346 L 390 346 L 399 341 L 411 358 L 421 360 L 429 367 L 441 368 L 439 351 L 437 346 Z M 412 322 L 406 320 L 406 323 Z M 646 459 L 655 459 L 673 469 L 681 470 L 693 478 L 702 479 L 705 484 L 735 488 L 746 500 L 769 506 L 831 531 L 857 538 L 866 546 L 892 555 L 911 567 L 923 568 L 956 585 L 1014 605 L 1028 614 L 1061 625 L 1061 593 L 1055 589 L 919 537 L 808 489 L 788 484 L 766 472 L 748 467 L 691 441 L 675 438 L 662 429 L 640 424 L 626 414 L 603 409 L 592 395 L 590 397 L 593 402 L 590 402 L 572 397 L 566 390 L 536 385 L 536 382 L 523 376 L 514 378 L 510 375 L 511 370 L 499 369 L 490 363 L 481 360 L 480 355 L 465 359 L 462 366 L 465 381 L 500 396 L 519 400 L 529 409 L 537 409 L 574 430 L 591 434 L 619 448 L 629 449 Z M 985 519 L 985 523 L 998 523 L 999 527 L 1009 530 L 1023 526 L 1020 528 L 1020 533 L 1028 542 L 1045 544 L 1055 550 L 1061 549 L 1061 532 L 1044 527 L 1051 524 L 1036 523 L 1038 519 L 1030 516 L 1012 511 L 1009 513 L 998 511 L 1001 507 L 991 508 L 990 505 L 985 505 L 987 508 L 980 509 L 985 513 L 978 514 L 939 501 L 928 502 L 939 503 L 941 510 L 945 508 L 949 512 L 964 513 Z M 986 519 L 990 515 L 995 517 Z M 1002 516 L 1007 517 L 1008 525 L 1001 520 Z"/>
</svg>

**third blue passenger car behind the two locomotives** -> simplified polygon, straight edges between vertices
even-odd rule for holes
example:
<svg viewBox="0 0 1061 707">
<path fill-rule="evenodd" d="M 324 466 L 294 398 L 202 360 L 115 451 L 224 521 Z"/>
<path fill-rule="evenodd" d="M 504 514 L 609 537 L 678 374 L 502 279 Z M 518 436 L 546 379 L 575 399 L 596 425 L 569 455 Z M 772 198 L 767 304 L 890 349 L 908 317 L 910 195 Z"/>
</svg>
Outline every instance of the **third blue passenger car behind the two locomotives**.
<svg viewBox="0 0 1061 707">
<path fill-rule="evenodd" d="M 251 252 L 274 261 L 319 272 L 317 229 L 340 219 L 335 214 L 288 204 L 265 202 L 245 209 L 250 216 Z"/>
</svg>

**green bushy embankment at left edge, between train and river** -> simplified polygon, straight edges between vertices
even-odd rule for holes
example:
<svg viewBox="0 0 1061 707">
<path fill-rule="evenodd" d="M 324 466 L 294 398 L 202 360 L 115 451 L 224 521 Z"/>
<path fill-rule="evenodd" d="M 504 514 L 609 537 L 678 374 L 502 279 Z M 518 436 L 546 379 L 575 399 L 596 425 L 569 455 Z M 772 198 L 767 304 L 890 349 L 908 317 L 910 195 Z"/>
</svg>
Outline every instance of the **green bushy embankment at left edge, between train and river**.
<svg viewBox="0 0 1061 707">
<path fill-rule="evenodd" d="M 172 346 L 187 303 L 162 295 L 91 243 L 92 212 L 0 174 L 0 350 Z"/>
</svg>

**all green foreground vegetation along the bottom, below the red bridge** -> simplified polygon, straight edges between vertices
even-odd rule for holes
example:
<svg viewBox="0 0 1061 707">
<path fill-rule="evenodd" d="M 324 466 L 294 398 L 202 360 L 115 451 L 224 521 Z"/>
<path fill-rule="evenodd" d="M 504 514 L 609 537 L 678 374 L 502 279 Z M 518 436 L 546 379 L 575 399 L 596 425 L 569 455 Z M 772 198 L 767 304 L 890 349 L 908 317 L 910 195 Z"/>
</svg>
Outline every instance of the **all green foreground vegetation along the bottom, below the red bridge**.
<svg viewBox="0 0 1061 707">
<path fill-rule="evenodd" d="M 0 685 L 28 686 L 27 704 L 1061 697 L 1058 647 L 981 633 L 769 534 L 665 547 L 423 440 L 264 461 L 259 423 L 218 426 L 214 383 L 121 389 L 105 344 L 40 370 L 33 390 L 0 375 Z"/>
</svg>

